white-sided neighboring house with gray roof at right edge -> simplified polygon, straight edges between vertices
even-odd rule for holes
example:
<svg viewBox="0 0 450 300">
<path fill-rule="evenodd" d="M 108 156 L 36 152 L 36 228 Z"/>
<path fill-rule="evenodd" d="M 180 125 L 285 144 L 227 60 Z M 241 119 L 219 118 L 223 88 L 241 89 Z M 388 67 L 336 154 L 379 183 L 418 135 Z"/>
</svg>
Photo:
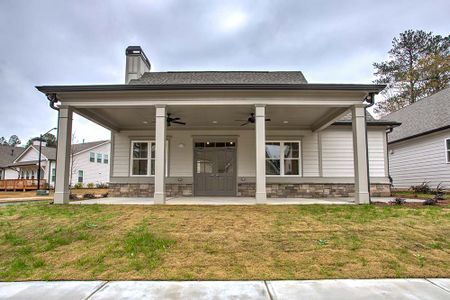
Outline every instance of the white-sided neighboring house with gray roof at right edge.
<svg viewBox="0 0 450 300">
<path fill-rule="evenodd" d="M 429 182 L 450 188 L 450 88 L 384 117 L 402 125 L 389 134 L 389 171 L 395 188 Z"/>
</svg>

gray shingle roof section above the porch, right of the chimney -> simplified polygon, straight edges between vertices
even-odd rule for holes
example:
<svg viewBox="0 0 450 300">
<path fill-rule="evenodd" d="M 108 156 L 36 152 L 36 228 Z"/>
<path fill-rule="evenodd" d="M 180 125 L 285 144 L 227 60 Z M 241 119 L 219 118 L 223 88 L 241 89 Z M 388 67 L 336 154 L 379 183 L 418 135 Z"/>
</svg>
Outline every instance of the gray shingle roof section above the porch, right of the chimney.
<svg viewBox="0 0 450 300">
<path fill-rule="evenodd" d="M 304 84 L 308 83 L 300 71 L 198 71 L 146 72 L 130 85 L 171 84 Z"/>
</svg>

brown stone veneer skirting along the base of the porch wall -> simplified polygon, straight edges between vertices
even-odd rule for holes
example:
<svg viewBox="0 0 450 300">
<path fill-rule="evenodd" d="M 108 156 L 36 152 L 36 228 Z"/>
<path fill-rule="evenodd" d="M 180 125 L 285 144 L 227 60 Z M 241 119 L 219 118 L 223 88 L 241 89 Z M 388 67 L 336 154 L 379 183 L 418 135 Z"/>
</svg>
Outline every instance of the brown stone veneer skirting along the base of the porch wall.
<svg viewBox="0 0 450 300">
<path fill-rule="evenodd" d="M 353 197 L 355 187 L 353 184 L 334 183 L 268 183 L 266 185 L 269 198 L 334 198 Z M 254 197 L 255 183 L 239 183 L 238 197 Z M 389 197 L 391 187 L 389 184 L 372 184 L 371 195 L 374 197 Z M 153 184 L 140 183 L 110 183 L 110 197 L 153 197 Z M 192 184 L 166 184 L 168 197 L 192 196 Z"/>
</svg>

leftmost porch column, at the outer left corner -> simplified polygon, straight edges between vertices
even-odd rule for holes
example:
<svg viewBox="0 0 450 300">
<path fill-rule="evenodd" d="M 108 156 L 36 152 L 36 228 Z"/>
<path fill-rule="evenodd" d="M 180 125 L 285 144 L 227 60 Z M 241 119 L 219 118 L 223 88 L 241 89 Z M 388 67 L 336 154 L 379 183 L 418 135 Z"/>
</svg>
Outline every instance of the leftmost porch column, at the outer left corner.
<svg viewBox="0 0 450 300">
<path fill-rule="evenodd" d="M 58 114 L 58 149 L 53 203 L 69 203 L 70 152 L 72 143 L 72 108 L 60 107 Z"/>
</svg>

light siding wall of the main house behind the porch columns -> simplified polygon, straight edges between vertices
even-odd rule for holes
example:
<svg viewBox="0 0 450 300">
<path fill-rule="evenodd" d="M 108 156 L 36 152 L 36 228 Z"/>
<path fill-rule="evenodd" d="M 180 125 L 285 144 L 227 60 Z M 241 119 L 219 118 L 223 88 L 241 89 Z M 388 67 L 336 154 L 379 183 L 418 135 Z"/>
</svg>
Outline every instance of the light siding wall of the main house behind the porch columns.
<svg viewBox="0 0 450 300">
<path fill-rule="evenodd" d="M 372 177 L 386 178 L 384 128 L 369 129 L 369 163 Z M 196 137 L 229 137 L 237 139 L 237 173 L 238 177 L 255 176 L 255 132 L 254 130 L 169 130 L 169 177 L 192 177 L 193 141 Z M 129 177 L 131 140 L 153 140 L 152 131 L 122 131 L 113 137 L 112 179 L 121 182 L 151 182 L 152 178 Z M 301 141 L 303 178 L 319 178 L 321 169 L 323 177 L 353 177 L 353 143 L 350 126 L 335 126 L 321 134 L 307 130 L 267 131 L 266 140 Z M 322 146 L 320 155 L 319 147 Z M 322 158 L 322 163 L 320 162 Z M 114 179 L 116 178 L 116 179 Z M 130 178 L 129 180 L 127 178 Z M 187 180 L 187 179 L 186 179 Z M 291 179 L 291 181 L 295 179 Z M 348 181 L 343 180 L 343 181 Z"/>
</svg>

